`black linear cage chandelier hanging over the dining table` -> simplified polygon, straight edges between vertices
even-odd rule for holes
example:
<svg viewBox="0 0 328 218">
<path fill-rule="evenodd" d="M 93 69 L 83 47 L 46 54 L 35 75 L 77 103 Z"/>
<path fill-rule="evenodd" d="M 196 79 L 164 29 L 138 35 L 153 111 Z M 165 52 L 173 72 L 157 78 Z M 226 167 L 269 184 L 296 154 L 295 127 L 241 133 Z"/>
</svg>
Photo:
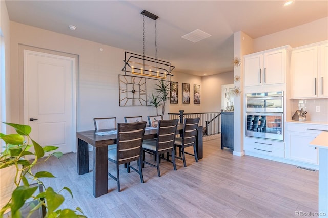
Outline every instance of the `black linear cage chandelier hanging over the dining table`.
<svg viewBox="0 0 328 218">
<path fill-rule="evenodd" d="M 144 54 L 138 55 L 131 52 L 125 52 L 124 67 L 122 71 L 127 74 L 149 76 L 159 79 L 166 79 L 167 76 L 173 76 L 171 71 L 175 68 L 170 62 L 157 59 L 157 19 L 158 16 L 144 10 L 141 12 L 143 17 L 143 39 Z M 145 56 L 145 16 L 155 20 L 155 58 Z"/>
</svg>

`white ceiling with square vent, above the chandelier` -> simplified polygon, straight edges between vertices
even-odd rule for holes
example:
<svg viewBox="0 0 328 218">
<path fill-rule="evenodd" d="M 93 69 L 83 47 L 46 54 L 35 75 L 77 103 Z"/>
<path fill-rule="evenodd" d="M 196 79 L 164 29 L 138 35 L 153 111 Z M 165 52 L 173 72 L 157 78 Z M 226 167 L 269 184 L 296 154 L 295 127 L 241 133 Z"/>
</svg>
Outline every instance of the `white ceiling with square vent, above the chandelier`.
<svg viewBox="0 0 328 218">
<path fill-rule="evenodd" d="M 1 0 L 2 1 L 2 0 Z M 233 33 L 252 38 L 328 17 L 328 1 L 17 1 L 9 19 L 142 54 L 142 10 L 157 16 L 157 58 L 175 72 L 203 76 L 233 71 Z M 75 25 L 71 31 L 68 25 Z M 211 36 L 181 38 L 196 29 Z M 145 55 L 155 56 L 155 21 L 145 17 Z M 122 55 L 122 59 L 124 59 Z M 123 63 L 122 63 L 123 66 Z"/>
</svg>

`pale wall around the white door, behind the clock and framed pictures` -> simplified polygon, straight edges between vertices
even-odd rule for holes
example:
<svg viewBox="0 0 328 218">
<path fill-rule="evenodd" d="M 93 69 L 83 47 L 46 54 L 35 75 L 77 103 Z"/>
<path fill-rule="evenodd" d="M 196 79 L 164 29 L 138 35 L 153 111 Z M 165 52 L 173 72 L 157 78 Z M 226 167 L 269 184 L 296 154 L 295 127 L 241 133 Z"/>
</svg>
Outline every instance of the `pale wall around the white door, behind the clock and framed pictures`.
<svg viewBox="0 0 328 218">
<path fill-rule="evenodd" d="M 118 75 L 124 62 L 125 50 L 102 45 L 100 43 L 54 33 L 48 30 L 10 22 L 11 34 L 11 122 L 24 122 L 23 93 L 23 49 L 46 49 L 48 52 L 75 56 L 78 59 L 77 72 L 77 130 L 93 129 L 94 117 L 117 117 L 117 122 L 124 122 L 124 116 L 155 115 L 154 107 L 119 107 Z M 103 48 L 103 51 L 100 51 Z M 174 64 L 174 63 L 172 63 Z M 182 82 L 199 84 L 202 89 L 201 77 L 172 72 L 172 81 L 179 83 L 179 103 L 167 102 L 168 112 L 188 113 L 201 111 L 201 104 L 182 105 Z M 51 81 L 49 81 L 51 82 Z M 155 80 L 147 79 L 147 95 L 151 95 Z M 202 91 L 201 91 L 202 92 Z M 193 90 L 191 92 L 193 95 Z M 161 111 L 159 111 L 159 114 Z M 166 116 L 168 118 L 168 116 Z"/>
</svg>

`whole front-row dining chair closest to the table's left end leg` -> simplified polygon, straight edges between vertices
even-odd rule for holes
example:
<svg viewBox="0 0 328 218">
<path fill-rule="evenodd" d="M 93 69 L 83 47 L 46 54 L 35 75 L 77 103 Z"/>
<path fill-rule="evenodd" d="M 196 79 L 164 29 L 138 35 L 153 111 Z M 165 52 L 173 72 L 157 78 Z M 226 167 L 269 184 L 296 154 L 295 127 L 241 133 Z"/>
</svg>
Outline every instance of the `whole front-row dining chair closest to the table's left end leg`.
<svg viewBox="0 0 328 218">
<path fill-rule="evenodd" d="M 144 140 L 146 121 L 137 123 L 118 123 L 117 148 L 108 151 L 109 163 L 116 164 L 116 177 L 108 172 L 108 176 L 117 181 L 117 191 L 120 192 L 119 165 L 127 164 L 128 172 L 133 169 L 140 175 L 141 183 L 144 183 L 142 175 L 142 141 Z M 139 169 L 131 166 L 130 162 L 137 161 Z"/>
</svg>

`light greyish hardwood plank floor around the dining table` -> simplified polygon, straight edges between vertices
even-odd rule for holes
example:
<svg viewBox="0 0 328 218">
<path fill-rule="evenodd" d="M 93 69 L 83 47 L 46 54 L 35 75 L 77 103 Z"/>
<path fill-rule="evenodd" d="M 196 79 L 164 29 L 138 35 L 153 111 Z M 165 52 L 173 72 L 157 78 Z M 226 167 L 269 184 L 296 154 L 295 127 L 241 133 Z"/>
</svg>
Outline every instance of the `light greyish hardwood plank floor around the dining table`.
<svg viewBox="0 0 328 218">
<path fill-rule="evenodd" d="M 39 164 L 56 178 L 45 184 L 69 187 L 64 207 L 80 207 L 88 217 L 295 217 L 296 211 L 318 212 L 318 171 L 220 149 L 220 134 L 205 137 L 203 159 L 187 155 L 187 167 L 162 161 L 161 177 L 145 165 L 145 183 L 133 170 L 120 167 L 121 192 L 109 178 L 108 194 L 92 195 L 92 171 L 77 175 L 76 154 Z M 89 155 L 92 158 L 92 154 Z M 92 169 L 90 158 L 90 169 Z M 152 160 L 146 154 L 146 159 Z M 114 164 L 109 168 L 115 173 Z"/>
</svg>

